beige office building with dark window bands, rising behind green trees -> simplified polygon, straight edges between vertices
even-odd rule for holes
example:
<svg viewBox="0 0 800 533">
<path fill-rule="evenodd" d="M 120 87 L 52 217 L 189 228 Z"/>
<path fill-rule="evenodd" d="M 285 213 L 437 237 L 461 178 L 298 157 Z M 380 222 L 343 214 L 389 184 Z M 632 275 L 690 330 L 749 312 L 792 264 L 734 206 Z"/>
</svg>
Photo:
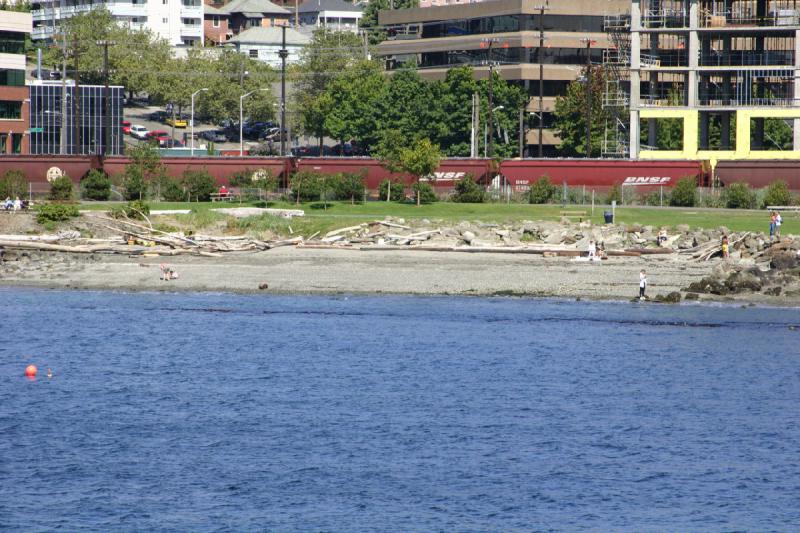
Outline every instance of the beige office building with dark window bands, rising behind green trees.
<svg viewBox="0 0 800 533">
<path fill-rule="evenodd" d="M 603 51 L 610 47 L 604 18 L 628 13 L 630 0 L 447 2 L 437 0 L 438 5 L 431 7 L 379 13 L 379 23 L 390 37 L 378 45 L 377 53 L 386 60 L 387 68 L 410 60 L 424 78 L 443 79 L 448 69 L 471 65 L 476 76 L 485 79 L 491 62 L 503 79 L 524 86 L 531 97 L 527 111 L 538 113 L 541 64 L 543 155 L 559 155 L 558 137 L 550 129 L 555 99 L 580 77 L 587 59 L 587 39 L 592 63 L 603 62 Z M 540 47 L 542 31 L 544 46 Z M 491 48 L 487 38 L 495 41 Z M 531 118 L 525 154 L 537 156 L 539 121 Z"/>
</svg>

